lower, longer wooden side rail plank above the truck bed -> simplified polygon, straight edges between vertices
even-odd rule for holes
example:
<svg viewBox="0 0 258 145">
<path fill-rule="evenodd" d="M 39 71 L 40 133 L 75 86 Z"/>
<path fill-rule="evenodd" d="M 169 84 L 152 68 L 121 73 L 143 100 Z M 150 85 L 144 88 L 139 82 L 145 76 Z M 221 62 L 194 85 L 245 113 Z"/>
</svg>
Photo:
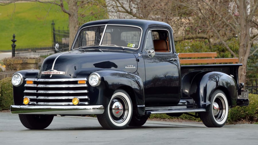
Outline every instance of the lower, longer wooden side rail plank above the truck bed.
<svg viewBox="0 0 258 145">
<path fill-rule="evenodd" d="M 237 63 L 238 58 L 179 59 L 181 64 L 192 63 Z"/>
</svg>

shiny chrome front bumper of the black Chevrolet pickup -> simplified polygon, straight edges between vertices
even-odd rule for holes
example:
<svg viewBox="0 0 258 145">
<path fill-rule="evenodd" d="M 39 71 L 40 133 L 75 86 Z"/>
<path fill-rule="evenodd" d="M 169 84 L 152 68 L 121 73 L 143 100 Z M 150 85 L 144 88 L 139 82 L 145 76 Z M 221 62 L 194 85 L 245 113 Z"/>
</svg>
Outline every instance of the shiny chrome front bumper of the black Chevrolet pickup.
<svg viewBox="0 0 258 145">
<path fill-rule="evenodd" d="M 11 105 L 10 112 L 18 113 L 18 114 L 89 115 L 89 114 L 102 114 L 104 112 L 104 107 L 102 105 L 93 105 L 93 106 Z"/>
</svg>

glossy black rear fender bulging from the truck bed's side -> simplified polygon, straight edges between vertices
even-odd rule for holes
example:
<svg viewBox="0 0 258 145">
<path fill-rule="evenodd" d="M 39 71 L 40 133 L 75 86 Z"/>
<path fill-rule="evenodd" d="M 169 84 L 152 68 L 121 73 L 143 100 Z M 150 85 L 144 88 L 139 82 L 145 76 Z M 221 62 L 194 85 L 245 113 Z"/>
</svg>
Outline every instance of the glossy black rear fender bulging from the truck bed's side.
<svg viewBox="0 0 258 145">
<path fill-rule="evenodd" d="M 225 93 L 228 105 L 235 106 L 237 97 L 236 86 L 236 81 L 225 73 L 204 71 L 198 73 L 193 78 L 189 96 L 193 98 L 198 108 L 206 108 L 208 111 L 212 93 L 216 89 L 220 89 Z"/>
</svg>

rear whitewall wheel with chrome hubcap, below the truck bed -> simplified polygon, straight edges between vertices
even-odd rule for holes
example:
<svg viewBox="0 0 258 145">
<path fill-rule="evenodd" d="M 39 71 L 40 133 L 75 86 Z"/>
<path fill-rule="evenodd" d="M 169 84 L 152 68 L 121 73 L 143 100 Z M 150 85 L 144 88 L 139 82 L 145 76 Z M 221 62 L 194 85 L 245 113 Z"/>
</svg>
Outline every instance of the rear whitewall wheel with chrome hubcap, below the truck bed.
<svg viewBox="0 0 258 145">
<path fill-rule="evenodd" d="M 200 118 L 207 127 L 222 127 L 228 117 L 228 100 L 221 90 L 212 93 L 210 110 L 200 112 Z"/>
</svg>

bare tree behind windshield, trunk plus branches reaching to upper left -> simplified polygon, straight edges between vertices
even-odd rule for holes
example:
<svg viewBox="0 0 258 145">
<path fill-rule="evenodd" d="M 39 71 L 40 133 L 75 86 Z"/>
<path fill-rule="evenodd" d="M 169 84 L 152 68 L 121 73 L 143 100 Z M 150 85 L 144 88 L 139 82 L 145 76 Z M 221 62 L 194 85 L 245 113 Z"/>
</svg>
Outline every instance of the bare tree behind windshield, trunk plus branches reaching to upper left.
<svg viewBox="0 0 258 145">
<path fill-rule="evenodd" d="M 80 14 L 83 13 L 85 9 L 88 9 L 93 4 L 99 3 L 99 1 L 97 0 L 1 0 L 0 5 L 7 5 L 18 1 L 51 3 L 53 5 L 58 5 L 64 13 L 67 13 L 69 15 L 69 31 L 70 31 L 69 47 L 71 47 L 73 43 L 73 39 L 75 38 L 75 34 L 79 28 Z M 68 9 L 64 7 L 64 2 L 68 4 Z M 84 10 L 80 11 L 80 8 Z M 88 15 L 93 15 L 93 13 L 90 13 Z"/>
</svg>

